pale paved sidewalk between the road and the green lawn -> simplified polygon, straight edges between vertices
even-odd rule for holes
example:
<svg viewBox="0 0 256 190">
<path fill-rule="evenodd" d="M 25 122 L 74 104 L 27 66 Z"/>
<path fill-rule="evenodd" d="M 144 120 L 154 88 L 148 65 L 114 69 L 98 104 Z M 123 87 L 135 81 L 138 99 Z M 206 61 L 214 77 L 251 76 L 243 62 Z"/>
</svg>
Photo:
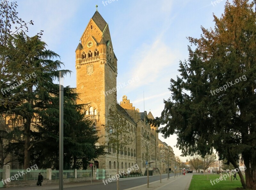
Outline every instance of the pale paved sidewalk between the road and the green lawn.
<svg viewBox="0 0 256 190">
<path fill-rule="evenodd" d="M 167 178 L 162 179 L 162 183 L 160 183 L 159 181 L 154 181 L 149 183 L 149 188 L 147 188 L 147 184 L 146 185 L 141 185 L 141 186 L 137 186 L 137 187 L 132 187 L 132 188 L 128 188 L 125 190 L 132 190 L 132 189 L 136 189 L 136 190 L 170 190 L 170 189 L 175 189 L 175 190 L 188 190 L 192 176 L 195 173 L 186 173 L 186 175 L 180 175 L 180 176 L 176 176 L 174 178 L 174 176 L 170 177 L 169 180 L 167 180 Z"/>
</svg>

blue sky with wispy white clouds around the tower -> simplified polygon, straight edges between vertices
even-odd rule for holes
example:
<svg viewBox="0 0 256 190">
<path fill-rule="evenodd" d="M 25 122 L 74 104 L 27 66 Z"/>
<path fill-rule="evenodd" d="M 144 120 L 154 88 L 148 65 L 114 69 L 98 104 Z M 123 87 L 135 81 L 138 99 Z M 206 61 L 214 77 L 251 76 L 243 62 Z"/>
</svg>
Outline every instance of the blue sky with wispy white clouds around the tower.
<svg viewBox="0 0 256 190">
<path fill-rule="evenodd" d="M 19 17 L 33 20 L 29 36 L 44 30 L 42 40 L 58 53 L 65 67 L 73 73 L 64 85 L 76 87 L 75 50 L 89 20 L 98 11 L 109 25 L 113 49 L 118 59 L 117 85 L 127 86 L 117 92 L 120 102 L 127 95 L 140 112 L 160 116 L 163 100 L 168 99 L 170 79 L 179 75 L 179 61 L 188 59 L 186 37 L 200 37 L 201 26 L 214 27 L 213 13 L 220 17 L 225 1 L 211 0 L 17 0 Z M 211 4 L 212 3 L 212 4 Z M 214 5 L 214 6 L 213 6 Z M 134 80 L 136 79 L 136 80 Z M 131 82 L 132 81 L 132 82 Z M 129 84 L 130 83 L 130 84 Z M 174 147 L 176 136 L 160 139 Z M 185 158 L 183 158 L 185 160 Z"/>
</svg>

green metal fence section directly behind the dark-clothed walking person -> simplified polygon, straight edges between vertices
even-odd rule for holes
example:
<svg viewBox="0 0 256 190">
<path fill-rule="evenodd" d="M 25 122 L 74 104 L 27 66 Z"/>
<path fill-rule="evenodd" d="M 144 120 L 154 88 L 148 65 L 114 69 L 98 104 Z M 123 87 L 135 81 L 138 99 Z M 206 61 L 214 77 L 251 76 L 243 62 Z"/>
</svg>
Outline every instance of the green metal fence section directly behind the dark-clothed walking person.
<svg viewBox="0 0 256 190">
<path fill-rule="evenodd" d="M 41 173 L 41 175 L 44 178 L 46 178 L 46 172 L 47 172 L 47 170 L 13 169 L 13 170 L 10 170 L 10 178 L 11 178 L 12 181 L 38 179 L 38 174 L 39 173 Z"/>
</svg>

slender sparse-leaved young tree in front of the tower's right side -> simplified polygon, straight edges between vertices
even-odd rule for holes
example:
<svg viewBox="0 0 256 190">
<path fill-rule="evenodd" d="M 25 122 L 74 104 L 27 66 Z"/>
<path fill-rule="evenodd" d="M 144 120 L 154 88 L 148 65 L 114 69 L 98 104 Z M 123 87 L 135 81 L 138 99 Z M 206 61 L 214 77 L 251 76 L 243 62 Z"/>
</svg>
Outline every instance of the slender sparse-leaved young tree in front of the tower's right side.
<svg viewBox="0 0 256 190">
<path fill-rule="evenodd" d="M 127 127 L 127 121 L 122 115 L 122 108 L 119 104 L 114 102 L 110 106 L 108 114 L 106 115 L 107 124 L 103 125 L 106 131 L 106 139 L 108 144 L 116 149 L 116 174 L 119 173 L 119 152 L 123 151 L 123 147 L 129 145 L 128 140 L 129 128 Z M 116 179 L 116 187 L 119 190 L 119 179 Z"/>
</svg>

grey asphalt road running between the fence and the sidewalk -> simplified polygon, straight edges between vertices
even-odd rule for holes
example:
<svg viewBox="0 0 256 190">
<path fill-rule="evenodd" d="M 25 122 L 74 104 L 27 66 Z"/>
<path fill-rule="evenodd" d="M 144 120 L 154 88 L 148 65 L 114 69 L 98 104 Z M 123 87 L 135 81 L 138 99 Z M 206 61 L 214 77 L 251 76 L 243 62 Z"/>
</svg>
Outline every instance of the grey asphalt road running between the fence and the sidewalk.
<svg viewBox="0 0 256 190">
<path fill-rule="evenodd" d="M 170 177 L 173 176 L 174 174 L 170 174 Z M 162 175 L 162 179 L 167 178 L 167 174 Z M 149 183 L 153 181 L 160 180 L 160 176 L 149 176 Z M 121 178 L 119 181 L 119 187 L 120 190 L 135 187 L 135 186 L 140 186 L 143 184 L 147 184 L 147 176 L 143 176 L 140 178 Z M 69 187 L 65 188 L 65 190 L 113 190 L 116 189 L 116 181 L 108 183 L 104 185 L 103 183 L 101 184 L 95 184 L 95 185 L 86 185 L 86 186 L 79 186 L 79 187 Z"/>
</svg>

